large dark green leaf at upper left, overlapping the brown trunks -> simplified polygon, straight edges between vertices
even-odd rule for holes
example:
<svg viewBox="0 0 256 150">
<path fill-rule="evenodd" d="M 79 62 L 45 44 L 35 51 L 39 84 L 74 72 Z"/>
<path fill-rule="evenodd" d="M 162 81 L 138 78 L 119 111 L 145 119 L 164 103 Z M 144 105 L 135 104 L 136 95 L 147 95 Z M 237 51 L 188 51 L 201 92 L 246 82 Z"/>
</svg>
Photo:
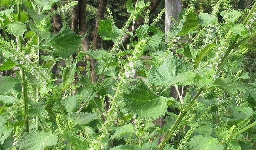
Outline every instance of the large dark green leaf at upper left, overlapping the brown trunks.
<svg viewBox="0 0 256 150">
<path fill-rule="evenodd" d="M 61 57 L 69 57 L 75 53 L 82 42 L 84 36 L 74 33 L 69 27 L 63 27 L 57 35 L 42 43 L 41 46 L 52 46 L 56 53 Z"/>
</svg>

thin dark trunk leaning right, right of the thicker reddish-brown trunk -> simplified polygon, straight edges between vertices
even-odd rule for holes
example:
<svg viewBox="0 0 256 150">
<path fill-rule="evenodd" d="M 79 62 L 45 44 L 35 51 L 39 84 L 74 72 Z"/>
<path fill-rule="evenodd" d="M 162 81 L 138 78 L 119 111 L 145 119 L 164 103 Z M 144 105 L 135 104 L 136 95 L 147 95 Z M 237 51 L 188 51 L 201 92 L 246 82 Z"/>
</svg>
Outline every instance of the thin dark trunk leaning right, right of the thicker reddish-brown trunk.
<svg viewBox="0 0 256 150">
<path fill-rule="evenodd" d="M 95 21 L 95 30 L 93 32 L 93 48 L 94 49 L 99 49 L 102 47 L 102 40 L 99 37 L 98 34 L 98 29 L 99 29 L 99 19 L 103 19 L 105 11 L 106 11 L 106 6 L 107 6 L 108 0 L 100 0 L 99 2 L 99 7 L 98 7 L 98 12 L 97 12 L 97 18 Z"/>
</svg>

